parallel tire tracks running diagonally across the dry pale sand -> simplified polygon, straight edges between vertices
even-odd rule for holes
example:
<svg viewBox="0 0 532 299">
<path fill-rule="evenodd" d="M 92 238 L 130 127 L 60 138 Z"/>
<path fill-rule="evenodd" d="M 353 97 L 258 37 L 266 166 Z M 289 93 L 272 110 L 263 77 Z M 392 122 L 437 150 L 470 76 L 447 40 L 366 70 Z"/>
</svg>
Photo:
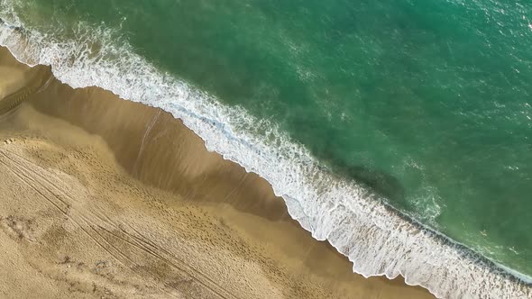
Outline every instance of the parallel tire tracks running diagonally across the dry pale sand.
<svg viewBox="0 0 532 299">
<path fill-rule="evenodd" d="M 166 264 L 168 267 L 178 270 L 218 298 L 237 299 L 234 294 L 227 291 L 223 286 L 216 284 L 213 279 L 203 275 L 194 267 L 188 266 L 186 262 L 175 258 L 175 255 L 172 255 L 169 250 L 156 245 L 140 231 L 134 229 L 133 226 L 129 224 L 117 225 L 105 213 L 96 215 L 96 213 L 92 213 L 87 209 L 84 209 L 82 211 L 83 213 L 81 213 L 78 211 L 77 200 L 65 193 L 63 191 L 65 188 L 61 188 L 63 182 L 60 177 L 45 168 L 35 165 L 31 160 L 24 158 L 13 150 L 3 148 L 0 148 L 0 154 L 4 159 L 0 157 L 0 163 L 5 168 L 13 173 L 15 177 L 18 177 L 23 184 L 31 187 L 32 190 L 41 195 L 43 199 L 53 205 L 60 213 L 64 214 L 69 221 L 75 223 L 79 229 L 84 231 L 95 242 L 96 246 L 104 249 L 105 252 L 118 260 L 124 267 L 130 268 L 134 273 L 141 276 L 142 272 L 148 272 L 152 276 L 157 276 L 155 273 L 150 273 L 152 271 L 137 264 L 134 261 L 134 257 L 129 256 L 124 249 L 120 249 L 120 247 L 124 247 L 125 245 L 129 247 L 129 252 L 133 252 L 135 249 L 140 250 L 151 256 L 151 258 Z M 34 170 L 35 168 L 38 171 Z M 68 190 L 68 187 L 66 189 Z M 142 268 L 144 271 L 141 272 L 140 269 Z M 166 287 L 180 291 L 168 282 L 164 283 L 165 287 L 161 287 L 160 285 L 152 286 L 155 286 L 172 297 L 178 296 L 170 293 Z"/>
</svg>

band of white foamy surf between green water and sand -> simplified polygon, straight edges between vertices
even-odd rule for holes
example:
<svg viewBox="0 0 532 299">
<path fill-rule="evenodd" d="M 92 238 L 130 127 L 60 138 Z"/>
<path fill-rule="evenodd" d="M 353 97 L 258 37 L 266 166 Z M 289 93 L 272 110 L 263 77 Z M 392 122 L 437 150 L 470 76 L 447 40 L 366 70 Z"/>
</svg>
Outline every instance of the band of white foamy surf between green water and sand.
<svg viewBox="0 0 532 299">
<path fill-rule="evenodd" d="M 9 3 L 0 0 L 0 9 L 10 12 Z M 13 14 L 10 17 L 19 22 Z M 99 86 L 172 113 L 205 140 L 207 149 L 267 179 L 286 201 L 290 215 L 316 240 L 328 240 L 347 256 L 354 272 L 389 278 L 402 275 L 408 285 L 422 285 L 445 298 L 532 297 L 530 285 L 405 220 L 361 186 L 321 168 L 306 149 L 271 123 L 220 104 L 161 72 L 134 54 L 127 43 L 117 46 L 105 29 L 79 26 L 72 40 L 59 41 L 53 32 L 16 26 L 23 24 L 0 24 L 0 44 L 17 59 L 50 65 L 69 86 Z"/>
</svg>

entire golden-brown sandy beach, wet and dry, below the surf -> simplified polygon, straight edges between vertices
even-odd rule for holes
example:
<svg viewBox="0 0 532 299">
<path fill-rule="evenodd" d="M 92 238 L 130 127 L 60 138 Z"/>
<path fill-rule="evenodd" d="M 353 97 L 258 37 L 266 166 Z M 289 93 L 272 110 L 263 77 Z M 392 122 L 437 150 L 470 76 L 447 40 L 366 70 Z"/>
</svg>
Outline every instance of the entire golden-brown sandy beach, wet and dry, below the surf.
<svg viewBox="0 0 532 299">
<path fill-rule="evenodd" d="M 1 98 L 25 100 L 0 115 L 1 298 L 432 297 L 353 274 L 168 113 L 5 49 Z"/>
</svg>

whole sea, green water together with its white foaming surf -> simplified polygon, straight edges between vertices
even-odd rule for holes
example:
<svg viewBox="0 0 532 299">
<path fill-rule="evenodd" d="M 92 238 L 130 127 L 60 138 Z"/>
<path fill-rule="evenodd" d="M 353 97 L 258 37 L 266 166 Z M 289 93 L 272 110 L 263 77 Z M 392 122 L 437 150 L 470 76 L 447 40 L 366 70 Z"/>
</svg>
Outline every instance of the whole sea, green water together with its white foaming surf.
<svg viewBox="0 0 532 299">
<path fill-rule="evenodd" d="M 161 107 L 266 178 L 355 272 L 531 295 L 529 2 L 0 0 L 0 18 L 18 59 Z"/>
</svg>

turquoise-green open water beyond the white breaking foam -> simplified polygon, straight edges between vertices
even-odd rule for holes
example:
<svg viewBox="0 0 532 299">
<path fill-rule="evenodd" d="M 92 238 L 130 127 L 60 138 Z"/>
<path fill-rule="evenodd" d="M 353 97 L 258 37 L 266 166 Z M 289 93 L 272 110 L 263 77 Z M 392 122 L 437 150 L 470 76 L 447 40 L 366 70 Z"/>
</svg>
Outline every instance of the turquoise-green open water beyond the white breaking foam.
<svg viewBox="0 0 532 299">
<path fill-rule="evenodd" d="M 127 43 L 162 72 L 276 126 L 335 176 L 532 276 L 529 3 L 5 0 L 4 5 L 14 10 L 5 9 L 3 19 L 16 15 L 25 27 L 47 34 L 45 39 L 76 39 L 91 28 L 105 32 L 116 47 Z M 98 47 L 103 46 L 80 47 L 78 54 L 96 57 Z M 271 139 L 267 128 L 249 131 L 259 140 Z"/>
</svg>

